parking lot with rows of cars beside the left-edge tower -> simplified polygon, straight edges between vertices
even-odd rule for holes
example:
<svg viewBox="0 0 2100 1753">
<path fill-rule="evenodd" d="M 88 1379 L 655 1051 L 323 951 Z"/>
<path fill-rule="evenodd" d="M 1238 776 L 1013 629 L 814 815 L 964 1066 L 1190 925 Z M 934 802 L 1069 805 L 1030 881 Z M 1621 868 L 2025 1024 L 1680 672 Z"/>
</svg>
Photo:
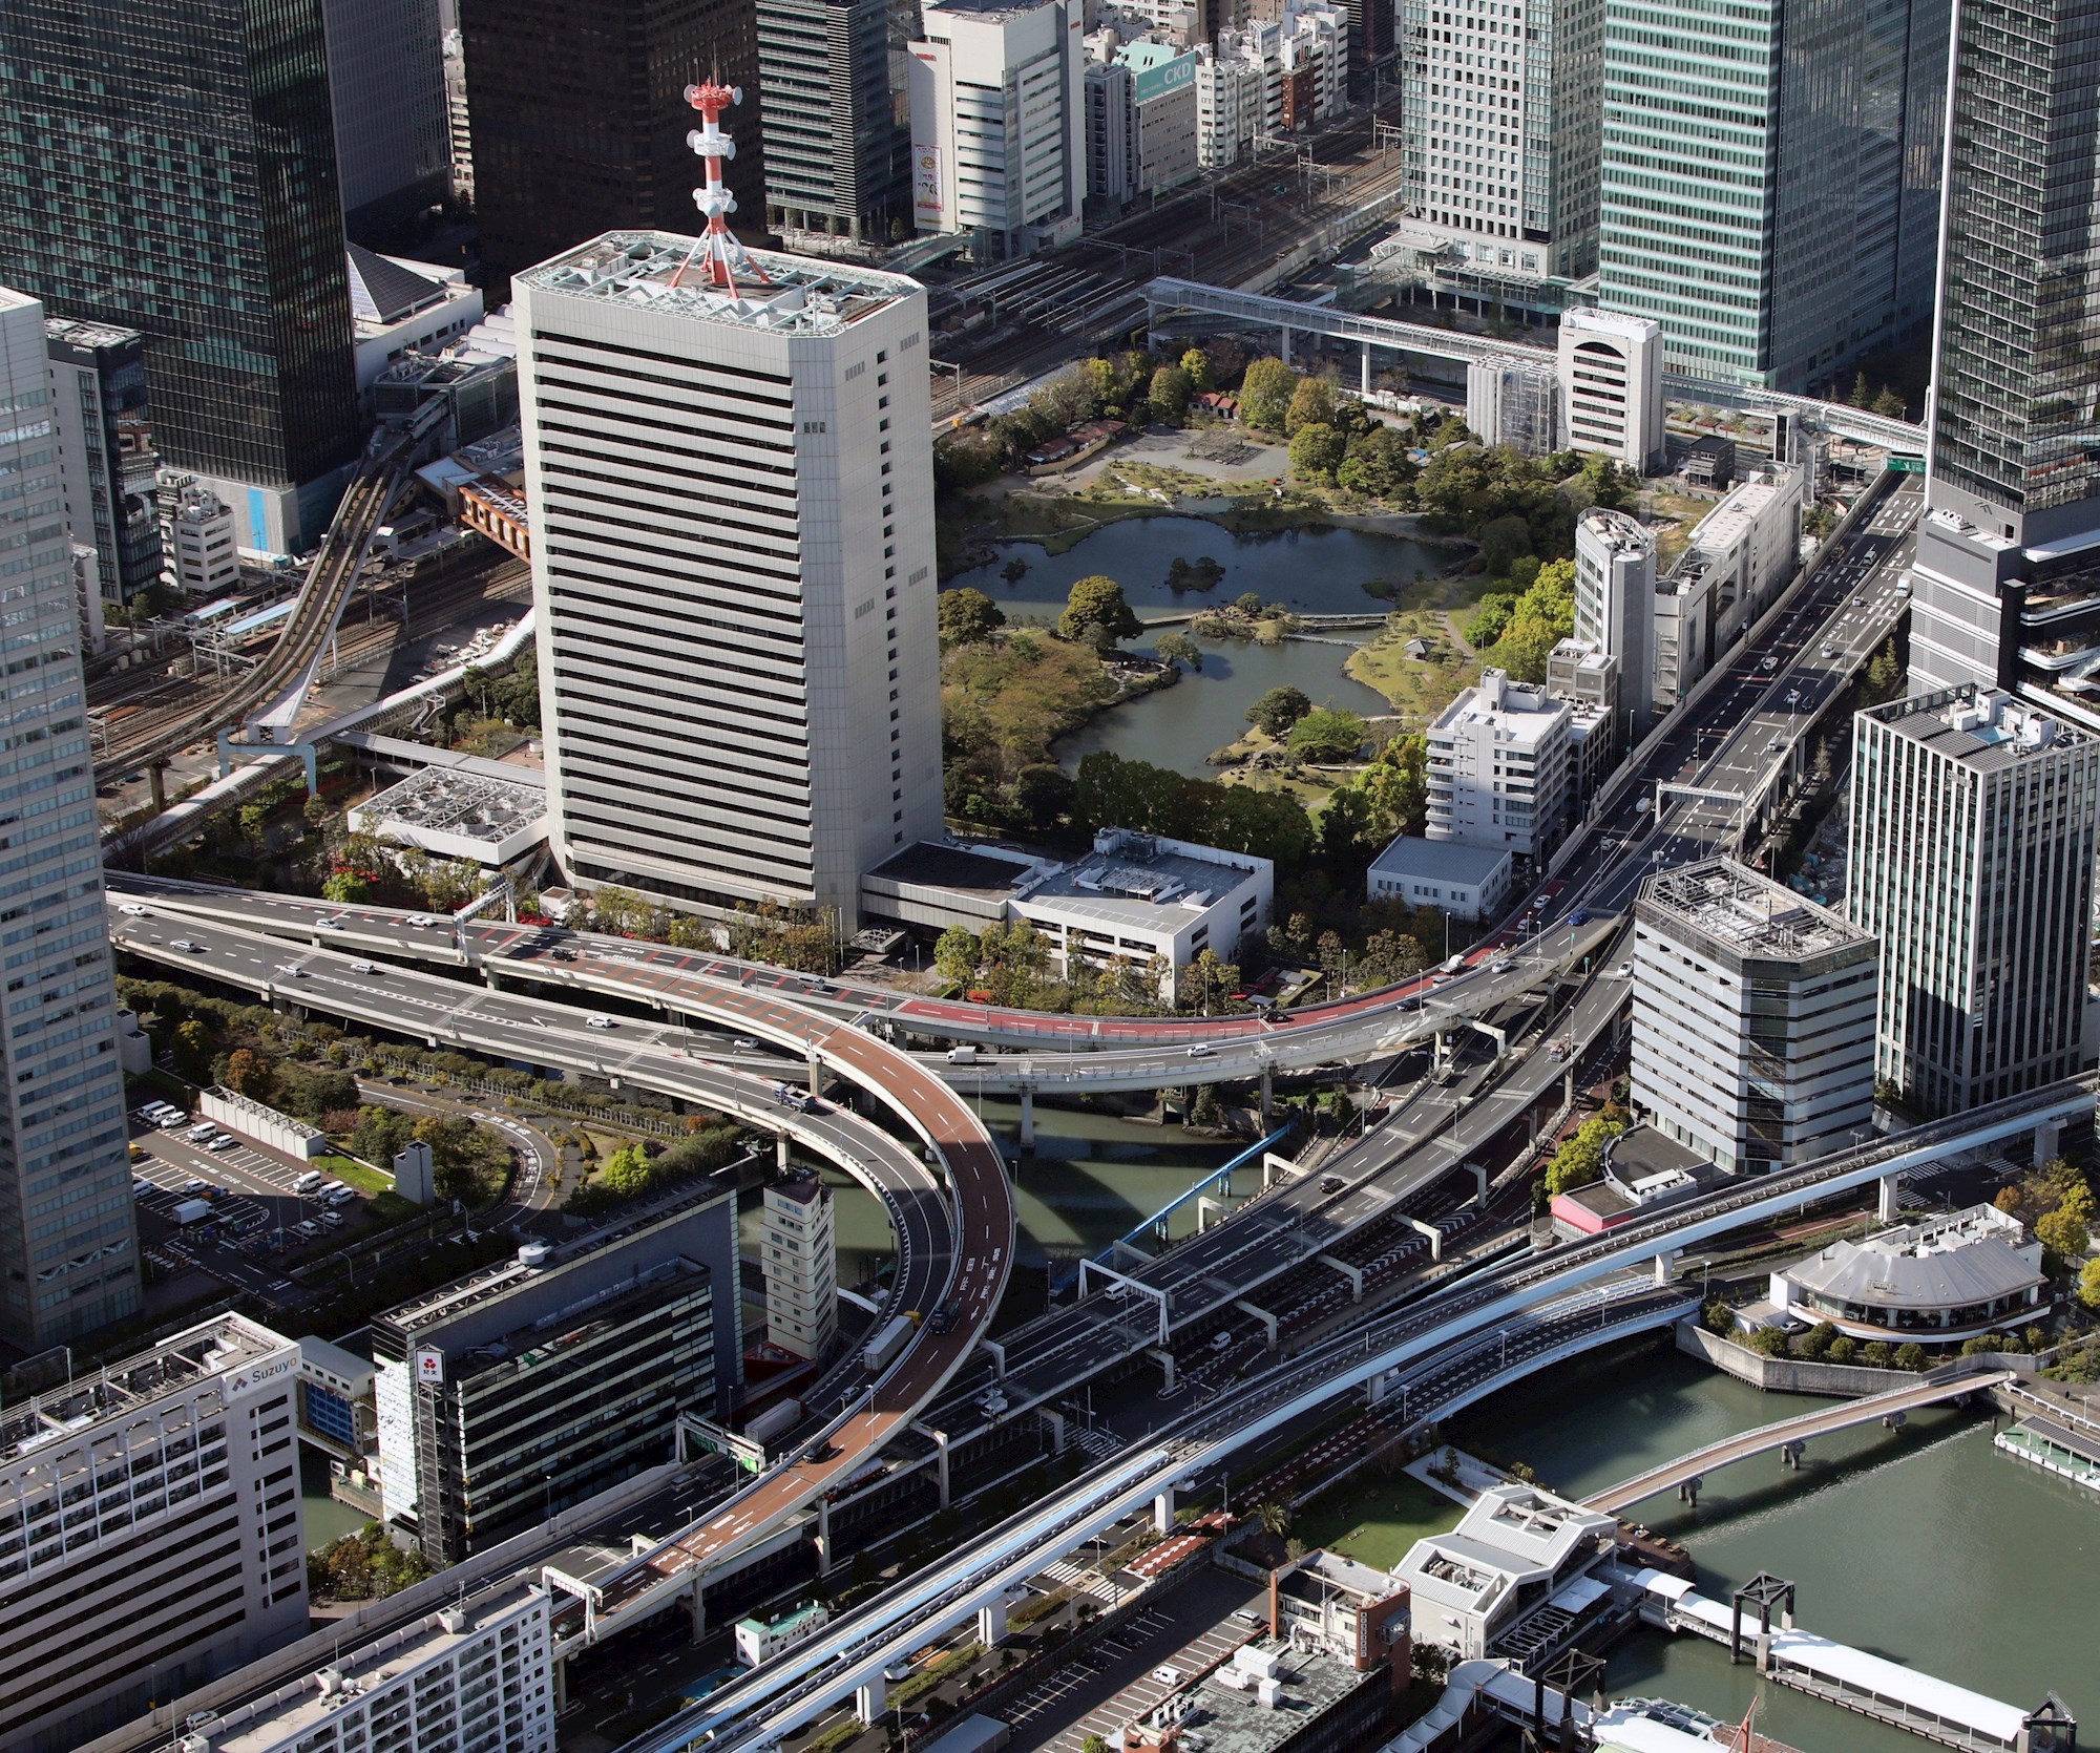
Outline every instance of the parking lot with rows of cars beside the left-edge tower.
<svg viewBox="0 0 2100 1753">
<path fill-rule="evenodd" d="M 139 1241 L 149 1266 L 172 1276 L 202 1274 L 281 1306 L 304 1302 L 286 1266 L 334 1247 L 365 1228 L 363 1203 L 330 1209 L 294 1186 L 307 1163 L 248 1140 L 208 1150 L 187 1136 L 202 1125 L 162 1127 L 132 1115 L 132 1192 L 139 1201 Z M 178 1207 L 202 1199 L 208 1218 L 176 1220 Z"/>
</svg>

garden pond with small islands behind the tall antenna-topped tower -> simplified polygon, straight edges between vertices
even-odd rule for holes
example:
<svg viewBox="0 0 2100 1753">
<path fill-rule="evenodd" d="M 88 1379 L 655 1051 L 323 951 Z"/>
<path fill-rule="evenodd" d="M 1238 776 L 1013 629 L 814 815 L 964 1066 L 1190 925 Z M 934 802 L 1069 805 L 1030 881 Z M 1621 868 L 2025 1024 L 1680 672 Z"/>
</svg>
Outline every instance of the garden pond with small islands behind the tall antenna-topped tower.
<svg viewBox="0 0 2100 1753">
<path fill-rule="evenodd" d="M 1023 558 L 1029 571 L 1008 582 L 1000 569 Z M 1214 558 L 1224 579 L 1212 590 L 1174 592 L 1166 584 L 1176 561 Z M 1107 573 L 1124 586 L 1124 596 L 1140 615 L 1163 609 L 1203 609 L 1256 592 L 1264 603 L 1287 603 L 1317 615 L 1380 613 L 1386 605 L 1365 582 L 1405 584 L 1415 573 L 1434 573 L 1443 556 L 1399 535 L 1361 529 L 1289 529 L 1264 535 L 1233 535 L 1193 516 L 1126 519 L 1088 535 L 1067 554 L 1046 556 L 1033 542 L 1008 542 L 989 565 L 960 573 L 947 588 L 983 590 L 1014 619 L 1054 621 L 1073 579 Z M 1268 689 L 1294 687 L 1315 705 L 1376 714 L 1386 699 L 1342 674 L 1348 649 L 1369 632 L 1340 632 L 1325 640 L 1197 640 L 1203 670 L 1186 674 L 1172 689 L 1159 689 L 1113 712 L 1105 712 L 1058 743 L 1058 756 L 1075 766 L 1096 749 L 1172 766 L 1203 777 L 1214 773 L 1205 756 L 1247 728 L 1247 705 Z M 1151 651 L 1136 640 L 1132 651 Z"/>
</svg>

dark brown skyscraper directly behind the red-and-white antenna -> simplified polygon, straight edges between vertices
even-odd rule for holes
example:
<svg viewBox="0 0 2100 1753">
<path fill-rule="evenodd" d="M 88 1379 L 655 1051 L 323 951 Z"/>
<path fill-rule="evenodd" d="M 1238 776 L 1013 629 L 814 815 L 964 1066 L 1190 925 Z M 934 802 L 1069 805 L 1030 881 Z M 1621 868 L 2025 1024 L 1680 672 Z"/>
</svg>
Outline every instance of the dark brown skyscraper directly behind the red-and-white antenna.
<svg viewBox="0 0 2100 1753">
<path fill-rule="evenodd" d="M 508 277 L 607 229 L 691 231 L 704 78 L 743 90 L 724 168 L 737 231 L 766 220 L 754 0 L 460 0 L 481 258 Z"/>
</svg>

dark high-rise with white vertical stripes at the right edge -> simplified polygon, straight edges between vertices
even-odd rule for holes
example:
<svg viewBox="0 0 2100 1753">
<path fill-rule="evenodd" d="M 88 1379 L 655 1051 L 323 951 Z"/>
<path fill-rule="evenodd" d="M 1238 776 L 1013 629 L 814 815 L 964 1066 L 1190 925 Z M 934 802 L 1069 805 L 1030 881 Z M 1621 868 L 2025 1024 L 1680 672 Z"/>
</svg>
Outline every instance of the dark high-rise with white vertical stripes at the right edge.
<svg viewBox="0 0 2100 1753">
<path fill-rule="evenodd" d="M 1846 915 L 1882 941 L 1875 1075 L 1926 1113 L 2092 1064 L 2100 737 L 1976 687 L 1852 720 Z"/>
</svg>

